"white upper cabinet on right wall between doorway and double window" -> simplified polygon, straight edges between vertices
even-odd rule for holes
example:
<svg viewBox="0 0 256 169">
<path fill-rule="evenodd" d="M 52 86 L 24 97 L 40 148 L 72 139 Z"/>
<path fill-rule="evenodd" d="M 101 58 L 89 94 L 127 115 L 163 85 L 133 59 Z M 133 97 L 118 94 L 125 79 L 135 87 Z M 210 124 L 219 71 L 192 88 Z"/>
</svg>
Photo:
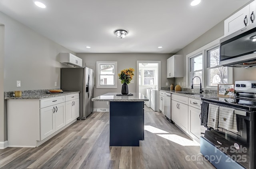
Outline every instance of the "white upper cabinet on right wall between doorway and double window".
<svg viewBox="0 0 256 169">
<path fill-rule="evenodd" d="M 183 57 L 174 55 L 167 59 L 167 78 L 183 77 Z"/>
</svg>

